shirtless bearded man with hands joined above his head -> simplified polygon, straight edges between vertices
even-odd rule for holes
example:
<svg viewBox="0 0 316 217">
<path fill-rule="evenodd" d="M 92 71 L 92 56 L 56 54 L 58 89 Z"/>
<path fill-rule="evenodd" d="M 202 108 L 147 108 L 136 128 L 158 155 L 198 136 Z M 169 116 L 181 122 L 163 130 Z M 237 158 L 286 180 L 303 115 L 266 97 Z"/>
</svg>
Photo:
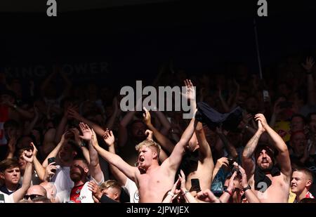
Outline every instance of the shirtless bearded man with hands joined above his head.
<svg viewBox="0 0 316 217">
<path fill-rule="evenodd" d="M 291 180 L 291 163 L 287 145 L 282 138 L 267 124 L 263 114 L 256 114 L 258 131 L 249 140 L 242 153 L 242 165 L 249 177 L 249 186 L 260 202 L 283 202 L 289 199 L 289 185 Z M 272 145 L 277 150 L 276 157 L 279 169 L 275 167 L 274 150 L 268 145 L 258 145 L 260 136 L 268 133 Z M 252 160 L 255 153 L 256 164 Z"/>
</svg>

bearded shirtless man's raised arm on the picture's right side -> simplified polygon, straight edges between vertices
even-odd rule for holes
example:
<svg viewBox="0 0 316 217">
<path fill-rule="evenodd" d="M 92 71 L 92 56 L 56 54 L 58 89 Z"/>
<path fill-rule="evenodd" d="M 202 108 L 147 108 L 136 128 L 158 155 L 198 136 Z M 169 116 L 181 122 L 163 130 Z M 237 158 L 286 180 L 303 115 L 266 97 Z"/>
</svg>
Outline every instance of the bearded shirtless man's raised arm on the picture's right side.
<svg viewBox="0 0 316 217">
<path fill-rule="evenodd" d="M 269 134 L 273 145 L 278 150 L 277 154 L 277 163 L 281 169 L 281 172 L 287 176 L 287 178 L 291 178 L 291 161 L 289 158 L 289 150 L 287 149 L 287 145 L 282 140 L 281 136 L 277 134 L 267 123 L 267 120 L 263 116 L 263 114 L 256 114 L 256 121 L 261 121 L 263 129 Z"/>
</svg>

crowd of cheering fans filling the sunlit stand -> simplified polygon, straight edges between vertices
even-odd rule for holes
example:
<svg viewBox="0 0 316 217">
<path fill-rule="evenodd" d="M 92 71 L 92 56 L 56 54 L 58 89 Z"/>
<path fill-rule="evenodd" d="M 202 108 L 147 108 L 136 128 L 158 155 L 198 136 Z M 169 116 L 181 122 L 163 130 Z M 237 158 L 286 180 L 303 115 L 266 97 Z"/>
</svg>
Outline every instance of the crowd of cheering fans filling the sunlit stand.
<svg viewBox="0 0 316 217">
<path fill-rule="evenodd" d="M 152 86 L 184 81 L 194 111 L 240 107 L 235 129 L 183 111 L 123 112 L 110 81 L 77 85 L 58 67 L 39 85 L 0 73 L 0 200 L 315 202 L 313 65 L 291 58 L 265 79 L 241 65 L 199 75 L 162 67 Z"/>
</svg>

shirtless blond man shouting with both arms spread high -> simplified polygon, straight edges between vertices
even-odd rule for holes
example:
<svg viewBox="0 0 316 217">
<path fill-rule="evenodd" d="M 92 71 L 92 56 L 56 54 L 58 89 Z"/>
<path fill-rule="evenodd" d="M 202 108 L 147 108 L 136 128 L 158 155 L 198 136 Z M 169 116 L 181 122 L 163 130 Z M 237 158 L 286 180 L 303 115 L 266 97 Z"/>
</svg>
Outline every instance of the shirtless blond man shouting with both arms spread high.
<svg viewBox="0 0 316 217">
<path fill-rule="evenodd" d="M 195 98 L 192 102 L 192 95 L 195 96 L 195 89 L 191 81 L 186 83 L 188 99 L 191 100 L 193 111 L 196 111 Z M 191 94 L 191 95 L 190 95 Z M 192 137 L 197 121 L 193 118 L 189 126 L 185 129 L 179 142 L 168 157 L 161 165 L 159 165 L 159 153 L 161 147 L 152 140 L 144 140 L 136 146 L 138 150 L 138 165 L 131 166 L 124 162 L 117 154 L 113 154 L 104 150 L 98 144 L 95 145 L 98 154 L 107 162 L 116 166 L 128 178 L 133 180 L 138 188 L 140 203 L 160 203 L 166 192 L 171 190 L 174 184 L 176 171 L 180 166 L 180 162 L 185 154 L 185 145 Z M 110 131 L 112 134 L 112 131 Z"/>
</svg>

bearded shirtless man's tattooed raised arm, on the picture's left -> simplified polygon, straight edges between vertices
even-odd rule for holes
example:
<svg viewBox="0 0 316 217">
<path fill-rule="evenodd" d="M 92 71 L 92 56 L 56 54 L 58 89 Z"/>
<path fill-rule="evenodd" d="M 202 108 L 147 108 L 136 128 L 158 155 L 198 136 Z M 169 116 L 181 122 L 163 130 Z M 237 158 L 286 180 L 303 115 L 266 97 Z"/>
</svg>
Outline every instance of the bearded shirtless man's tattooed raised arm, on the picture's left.
<svg viewBox="0 0 316 217">
<path fill-rule="evenodd" d="M 258 130 L 248 141 L 248 143 L 244 147 L 244 151 L 242 152 L 242 167 L 246 171 L 246 176 L 248 178 L 250 178 L 254 174 L 256 165 L 255 162 L 252 160 L 252 155 L 254 154 L 254 150 L 256 150 L 258 141 L 264 131 L 265 129 L 263 129 L 261 121 L 258 121 Z"/>
</svg>

